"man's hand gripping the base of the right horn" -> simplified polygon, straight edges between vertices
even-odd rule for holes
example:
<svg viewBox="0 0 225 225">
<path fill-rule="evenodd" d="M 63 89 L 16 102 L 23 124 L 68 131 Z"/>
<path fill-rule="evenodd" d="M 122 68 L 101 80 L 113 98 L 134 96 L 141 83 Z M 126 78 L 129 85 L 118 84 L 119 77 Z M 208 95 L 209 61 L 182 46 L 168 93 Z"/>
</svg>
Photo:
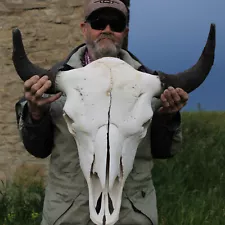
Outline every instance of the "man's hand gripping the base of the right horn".
<svg viewBox="0 0 225 225">
<path fill-rule="evenodd" d="M 159 113 L 174 114 L 180 111 L 188 101 L 188 94 L 181 88 L 174 89 L 168 87 L 163 94 L 161 94 L 162 107 Z"/>
</svg>

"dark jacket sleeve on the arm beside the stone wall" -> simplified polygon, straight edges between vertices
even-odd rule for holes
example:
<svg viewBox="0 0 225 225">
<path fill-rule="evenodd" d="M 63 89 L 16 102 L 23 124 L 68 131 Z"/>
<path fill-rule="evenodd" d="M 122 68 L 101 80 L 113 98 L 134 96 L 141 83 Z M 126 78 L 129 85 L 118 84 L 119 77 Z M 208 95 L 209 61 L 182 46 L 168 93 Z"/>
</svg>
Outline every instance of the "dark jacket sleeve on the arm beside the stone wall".
<svg viewBox="0 0 225 225">
<path fill-rule="evenodd" d="M 22 98 L 15 105 L 19 135 L 26 150 L 37 158 L 46 158 L 53 147 L 53 125 L 50 114 L 35 122 L 28 112 L 27 101 Z"/>
</svg>

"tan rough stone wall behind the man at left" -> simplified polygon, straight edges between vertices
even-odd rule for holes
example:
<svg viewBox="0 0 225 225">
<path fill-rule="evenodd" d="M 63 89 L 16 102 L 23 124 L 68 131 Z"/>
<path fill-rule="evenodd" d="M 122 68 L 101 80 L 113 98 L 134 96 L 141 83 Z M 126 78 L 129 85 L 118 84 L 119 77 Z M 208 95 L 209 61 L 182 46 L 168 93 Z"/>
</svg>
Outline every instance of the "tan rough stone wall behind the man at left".
<svg viewBox="0 0 225 225">
<path fill-rule="evenodd" d="M 0 180 L 21 168 L 47 171 L 48 159 L 26 152 L 19 138 L 14 105 L 23 83 L 12 64 L 12 29 L 18 27 L 28 57 L 49 68 L 82 42 L 79 23 L 83 0 L 0 0 Z M 32 169 L 33 168 L 33 169 Z"/>
</svg>

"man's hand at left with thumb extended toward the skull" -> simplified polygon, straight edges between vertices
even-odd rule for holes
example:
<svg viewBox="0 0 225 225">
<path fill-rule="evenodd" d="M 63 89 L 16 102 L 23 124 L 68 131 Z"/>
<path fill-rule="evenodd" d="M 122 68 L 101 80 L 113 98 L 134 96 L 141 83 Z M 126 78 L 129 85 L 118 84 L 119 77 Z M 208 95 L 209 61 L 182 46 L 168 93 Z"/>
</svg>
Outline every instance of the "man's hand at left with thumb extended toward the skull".
<svg viewBox="0 0 225 225">
<path fill-rule="evenodd" d="M 32 76 L 24 83 L 24 95 L 28 101 L 29 112 L 32 119 L 40 120 L 46 111 L 46 106 L 58 98 L 61 93 L 57 93 L 54 96 L 43 98 L 42 95 L 51 87 L 51 81 L 47 76 L 39 77 L 37 75 Z"/>
</svg>

